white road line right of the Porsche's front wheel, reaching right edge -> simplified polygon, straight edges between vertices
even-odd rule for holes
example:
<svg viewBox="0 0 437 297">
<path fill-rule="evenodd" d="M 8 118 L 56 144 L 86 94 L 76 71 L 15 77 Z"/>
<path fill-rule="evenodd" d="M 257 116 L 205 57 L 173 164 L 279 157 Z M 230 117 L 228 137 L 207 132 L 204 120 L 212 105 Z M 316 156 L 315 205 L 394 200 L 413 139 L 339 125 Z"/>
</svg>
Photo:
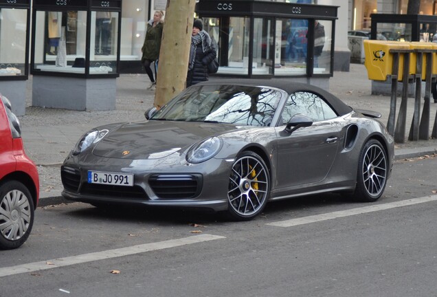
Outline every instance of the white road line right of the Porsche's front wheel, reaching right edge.
<svg viewBox="0 0 437 297">
<path fill-rule="evenodd" d="M 325 214 L 317 214 L 309 217 L 302 217 L 299 219 L 289 219 L 287 221 L 278 221 L 273 223 L 267 223 L 266 225 L 273 225 L 276 227 L 293 227 L 295 225 L 304 225 L 307 223 L 316 223 L 320 221 L 326 221 L 328 219 L 337 219 L 340 217 L 349 217 L 355 214 L 364 214 L 368 212 L 376 212 L 379 210 L 388 210 L 390 208 L 398 208 L 403 206 L 411 206 L 418 203 L 426 203 L 436 201 L 437 195 L 429 197 L 421 197 L 414 199 L 407 199 L 403 201 L 396 201 L 392 203 L 377 204 L 373 206 L 365 206 L 363 208 L 352 208 L 350 210 L 340 210 L 337 212 L 328 212 Z"/>
</svg>

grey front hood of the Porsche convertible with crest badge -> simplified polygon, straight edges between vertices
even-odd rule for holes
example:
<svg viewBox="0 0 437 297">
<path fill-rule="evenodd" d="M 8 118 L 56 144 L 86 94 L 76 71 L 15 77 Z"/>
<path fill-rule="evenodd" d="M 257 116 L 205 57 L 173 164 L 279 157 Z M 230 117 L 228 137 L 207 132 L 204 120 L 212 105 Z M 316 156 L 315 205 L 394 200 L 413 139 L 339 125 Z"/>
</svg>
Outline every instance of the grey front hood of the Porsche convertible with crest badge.
<svg viewBox="0 0 437 297">
<path fill-rule="evenodd" d="M 159 159 L 187 148 L 210 135 L 236 129 L 232 124 L 155 121 L 123 124 L 93 149 L 100 157 Z"/>
</svg>

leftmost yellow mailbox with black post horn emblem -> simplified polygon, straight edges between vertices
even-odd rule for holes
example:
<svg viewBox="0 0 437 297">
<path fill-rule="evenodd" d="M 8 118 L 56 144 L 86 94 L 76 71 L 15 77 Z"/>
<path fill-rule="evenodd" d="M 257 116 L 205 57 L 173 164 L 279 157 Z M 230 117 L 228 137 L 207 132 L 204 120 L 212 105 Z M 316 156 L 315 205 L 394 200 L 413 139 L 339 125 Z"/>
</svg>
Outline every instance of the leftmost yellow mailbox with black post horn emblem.
<svg viewBox="0 0 437 297">
<path fill-rule="evenodd" d="M 392 74 L 394 54 L 390 53 L 390 50 L 411 50 L 408 43 L 400 41 L 365 40 L 363 42 L 365 53 L 364 65 L 370 80 L 385 81 L 387 76 Z M 416 72 L 415 68 L 414 72 Z M 398 80 L 402 80 L 402 78 L 403 54 L 399 54 Z"/>
</svg>

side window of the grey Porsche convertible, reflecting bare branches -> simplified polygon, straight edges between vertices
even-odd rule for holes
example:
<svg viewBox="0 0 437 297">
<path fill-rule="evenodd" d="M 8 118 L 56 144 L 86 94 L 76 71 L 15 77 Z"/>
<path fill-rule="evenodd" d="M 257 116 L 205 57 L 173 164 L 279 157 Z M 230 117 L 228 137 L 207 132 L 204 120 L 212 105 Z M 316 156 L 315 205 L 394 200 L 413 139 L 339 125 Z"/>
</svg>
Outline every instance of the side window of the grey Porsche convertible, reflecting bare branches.
<svg viewBox="0 0 437 297">
<path fill-rule="evenodd" d="M 337 113 L 320 96 L 306 91 L 299 91 L 289 96 L 282 111 L 282 124 L 298 113 L 308 115 L 314 122 L 337 117 Z"/>
</svg>

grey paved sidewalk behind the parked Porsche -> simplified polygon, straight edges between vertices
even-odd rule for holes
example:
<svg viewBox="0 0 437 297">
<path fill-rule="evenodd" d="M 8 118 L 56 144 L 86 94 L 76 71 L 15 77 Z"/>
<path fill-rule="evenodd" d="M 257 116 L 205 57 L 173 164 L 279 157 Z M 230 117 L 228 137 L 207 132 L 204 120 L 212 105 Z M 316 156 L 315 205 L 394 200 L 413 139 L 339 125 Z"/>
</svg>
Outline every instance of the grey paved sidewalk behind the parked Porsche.
<svg viewBox="0 0 437 297">
<path fill-rule="evenodd" d="M 32 90 L 30 78 L 30 91 Z M 146 90 L 148 77 L 145 74 L 122 74 L 117 78 L 117 102 L 114 111 L 69 111 L 63 109 L 43 109 L 29 107 L 26 114 L 19 117 L 23 129 L 25 151 L 38 166 L 40 175 L 40 203 L 47 206 L 60 203 L 62 183 L 60 164 L 76 144 L 79 137 L 89 129 L 109 122 L 135 122 L 144 120 L 144 111 L 153 105 L 155 91 Z M 357 109 L 379 111 L 381 122 L 387 124 L 390 111 L 390 97 L 372 96 L 371 81 L 367 78 L 364 65 L 351 64 L 350 72 L 335 72 L 330 79 L 330 92 Z M 30 98 L 30 95 L 28 96 Z M 398 106 L 401 98 L 398 98 Z M 414 98 L 409 98 L 407 131 L 410 131 Z M 437 104 L 431 104 L 432 126 Z M 396 113 L 399 107 L 396 109 Z M 429 134 L 431 135 L 431 133 Z M 418 157 L 437 153 L 437 140 L 421 140 L 396 144 L 396 159 Z"/>
</svg>

